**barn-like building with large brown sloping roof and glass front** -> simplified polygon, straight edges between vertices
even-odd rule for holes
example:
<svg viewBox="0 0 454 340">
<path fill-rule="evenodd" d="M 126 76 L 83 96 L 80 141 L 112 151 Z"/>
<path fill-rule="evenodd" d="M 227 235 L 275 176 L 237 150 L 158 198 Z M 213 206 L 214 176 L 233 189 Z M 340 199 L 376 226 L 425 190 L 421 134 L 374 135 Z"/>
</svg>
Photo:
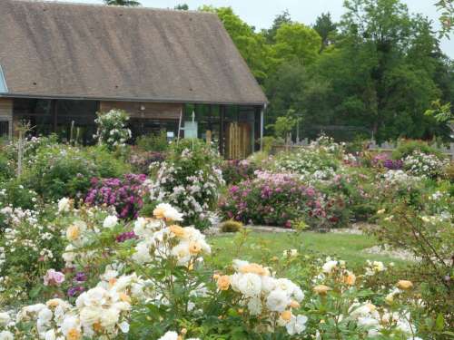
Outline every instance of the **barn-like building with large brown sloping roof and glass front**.
<svg viewBox="0 0 454 340">
<path fill-rule="evenodd" d="M 267 100 L 217 15 L 31 0 L 1 0 L 0 14 L 0 134 L 30 121 L 89 142 L 96 112 L 118 108 L 134 137 L 258 149 Z"/>
</svg>

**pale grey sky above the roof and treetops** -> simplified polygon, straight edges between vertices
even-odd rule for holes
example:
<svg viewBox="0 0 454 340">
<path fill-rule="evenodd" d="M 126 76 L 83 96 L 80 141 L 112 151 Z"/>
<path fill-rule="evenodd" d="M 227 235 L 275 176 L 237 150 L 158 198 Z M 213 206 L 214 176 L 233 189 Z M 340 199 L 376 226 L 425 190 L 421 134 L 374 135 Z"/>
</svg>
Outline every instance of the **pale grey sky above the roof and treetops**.
<svg viewBox="0 0 454 340">
<path fill-rule="evenodd" d="M 88 4 L 102 4 L 102 0 L 59 0 Z M 187 4 L 190 9 L 201 5 L 231 6 L 237 15 L 257 29 L 269 28 L 274 17 L 288 10 L 291 19 L 304 24 L 313 24 L 321 13 L 330 12 L 334 20 L 339 20 L 344 10 L 343 0 L 138 0 L 143 6 L 173 8 L 178 4 Z M 402 0 L 408 5 L 410 13 L 426 15 L 439 28 L 439 14 L 433 5 L 436 0 Z M 451 39 L 443 39 L 441 49 L 454 59 L 454 34 Z"/>
</svg>

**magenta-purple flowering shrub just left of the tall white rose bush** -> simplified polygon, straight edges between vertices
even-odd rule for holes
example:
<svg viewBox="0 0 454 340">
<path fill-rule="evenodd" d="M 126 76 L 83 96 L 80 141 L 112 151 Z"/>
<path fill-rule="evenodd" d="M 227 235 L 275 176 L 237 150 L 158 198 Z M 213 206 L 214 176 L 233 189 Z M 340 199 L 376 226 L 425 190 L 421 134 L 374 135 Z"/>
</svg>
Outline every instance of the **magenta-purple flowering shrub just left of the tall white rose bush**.
<svg viewBox="0 0 454 340">
<path fill-rule="evenodd" d="M 126 174 L 123 179 L 92 179 L 85 203 L 112 206 L 121 219 L 135 219 L 143 207 L 145 175 Z"/>
</svg>

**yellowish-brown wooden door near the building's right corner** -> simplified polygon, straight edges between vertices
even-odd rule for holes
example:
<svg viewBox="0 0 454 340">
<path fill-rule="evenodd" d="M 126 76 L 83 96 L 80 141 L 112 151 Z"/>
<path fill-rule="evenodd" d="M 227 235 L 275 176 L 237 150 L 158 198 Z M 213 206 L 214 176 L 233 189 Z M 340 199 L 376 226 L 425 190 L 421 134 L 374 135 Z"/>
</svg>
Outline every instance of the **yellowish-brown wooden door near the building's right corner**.
<svg viewBox="0 0 454 340">
<path fill-rule="evenodd" d="M 242 160 L 251 154 L 252 129 L 248 122 L 231 122 L 226 131 L 226 156 L 229 160 Z"/>
</svg>

